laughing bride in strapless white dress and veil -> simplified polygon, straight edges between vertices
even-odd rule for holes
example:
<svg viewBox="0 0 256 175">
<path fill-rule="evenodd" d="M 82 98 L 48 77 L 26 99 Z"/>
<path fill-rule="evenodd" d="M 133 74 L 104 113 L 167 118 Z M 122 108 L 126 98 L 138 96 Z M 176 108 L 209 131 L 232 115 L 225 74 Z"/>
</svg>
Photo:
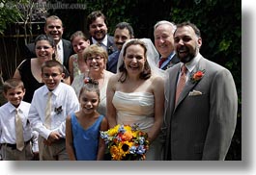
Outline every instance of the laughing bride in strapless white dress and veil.
<svg viewBox="0 0 256 175">
<path fill-rule="evenodd" d="M 148 38 L 128 40 L 120 53 L 117 74 L 107 86 L 109 127 L 138 124 L 148 133 L 147 161 L 161 160 L 158 138 L 163 121 L 163 72 L 156 67 L 158 54 Z"/>
</svg>

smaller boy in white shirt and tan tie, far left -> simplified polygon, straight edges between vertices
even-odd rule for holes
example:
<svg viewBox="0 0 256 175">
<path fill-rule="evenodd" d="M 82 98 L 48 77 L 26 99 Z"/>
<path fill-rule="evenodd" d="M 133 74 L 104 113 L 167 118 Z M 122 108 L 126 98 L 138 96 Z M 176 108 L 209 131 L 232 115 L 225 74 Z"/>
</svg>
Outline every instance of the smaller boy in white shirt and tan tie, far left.
<svg viewBox="0 0 256 175">
<path fill-rule="evenodd" d="M 0 107 L 0 143 L 4 161 L 31 161 L 38 154 L 37 135 L 32 133 L 28 121 L 30 104 L 22 101 L 23 82 L 9 79 L 4 83 L 4 96 L 8 102 Z M 16 134 L 17 133 L 17 134 Z M 20 135 L 18 135 L 20 134 Z M 33 143 L 33 152 L 31 147 Z"/>
</svg>

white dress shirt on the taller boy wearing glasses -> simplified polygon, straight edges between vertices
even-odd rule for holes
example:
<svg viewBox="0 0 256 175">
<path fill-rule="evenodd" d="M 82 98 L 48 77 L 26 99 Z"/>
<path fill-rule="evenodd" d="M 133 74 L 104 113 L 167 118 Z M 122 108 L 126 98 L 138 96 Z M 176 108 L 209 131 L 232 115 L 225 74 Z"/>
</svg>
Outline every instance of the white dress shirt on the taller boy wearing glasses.
<svg viewBox="0 0 256 175">
<path fill-rule="evenodd" d="M 45 85 L 35 91 L 28 118 L 33 129 L 38 131 L 39 135 L 45 139 L 49 137 L 50 133 L 53 131 L 58 132 L 62 137 L 66 137 L 66 118 L 71 112 L 77 112 L 79 110 L 78 99 L 71 86 L 60 83 L 58 87 L 52 91 L 51 129 L 47 129 L 43 123 L 48 91 Z"/>
</svg>

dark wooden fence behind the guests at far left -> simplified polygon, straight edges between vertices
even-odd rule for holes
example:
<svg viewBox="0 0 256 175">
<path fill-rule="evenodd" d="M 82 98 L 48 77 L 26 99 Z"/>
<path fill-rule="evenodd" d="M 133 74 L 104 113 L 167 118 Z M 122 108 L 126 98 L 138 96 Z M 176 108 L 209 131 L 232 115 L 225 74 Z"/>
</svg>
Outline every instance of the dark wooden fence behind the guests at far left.
<svg viewBox="0 0 256 175">
<path fill-rule="evenodd" d="M 4 81 L 13 77 L 16 66 L 25 59 L 25 44 L 43 33 L 43 22 L 31 23 L 26 30 L 22 23 L 16 23 L 0 36 L 0 73 Z"/>
</svg>

